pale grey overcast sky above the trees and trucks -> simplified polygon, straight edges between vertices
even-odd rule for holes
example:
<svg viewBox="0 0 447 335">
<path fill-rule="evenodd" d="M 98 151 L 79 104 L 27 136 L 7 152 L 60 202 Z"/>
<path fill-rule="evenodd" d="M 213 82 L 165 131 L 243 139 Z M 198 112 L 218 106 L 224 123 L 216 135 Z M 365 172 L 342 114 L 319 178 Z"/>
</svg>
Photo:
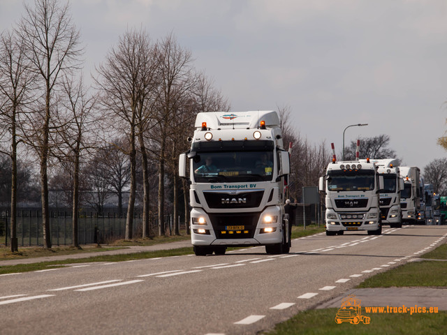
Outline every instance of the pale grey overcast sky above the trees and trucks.
<svg viewBox="0 0 447 335">
<path fill-rule="evenodd" d="M 34 3 L 34 0 L 25 1 Z M 24 13 L 0 0 L 0 31 Z M 126 29 L 171 32 L 233 111 L 290 107 L 301 137 L 335 143 L 390 136 L 421 170 L 447 152 L 445 0 L 72 0 L 85 75 Z M 338 158 L 338 157 L 337 157 Z"/>
</svg>

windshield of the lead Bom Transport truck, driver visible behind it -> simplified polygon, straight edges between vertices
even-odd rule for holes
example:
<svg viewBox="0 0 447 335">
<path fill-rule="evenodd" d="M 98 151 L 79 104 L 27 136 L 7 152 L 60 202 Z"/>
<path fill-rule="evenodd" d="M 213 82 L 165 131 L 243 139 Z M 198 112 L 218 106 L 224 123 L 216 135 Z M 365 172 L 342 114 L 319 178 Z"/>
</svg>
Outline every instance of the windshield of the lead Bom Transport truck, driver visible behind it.
<svg viewBox="0 0 447 335">
<path fill-rule="evenodd" d="M 197 182 L 270 181 L 273 151 L 198 152 L 193 158 Z"/>
</svg>

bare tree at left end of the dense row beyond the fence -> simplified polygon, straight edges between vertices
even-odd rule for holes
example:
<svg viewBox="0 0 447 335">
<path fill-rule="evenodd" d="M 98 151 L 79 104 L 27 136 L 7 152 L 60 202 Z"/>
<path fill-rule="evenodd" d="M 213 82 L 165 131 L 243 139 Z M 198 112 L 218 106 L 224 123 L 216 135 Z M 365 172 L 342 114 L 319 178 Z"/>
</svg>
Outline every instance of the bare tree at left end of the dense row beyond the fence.
<svg viewBox="0 0 447 335">
<path fill-rule="evenodd" d="M 131 184 L 129 204 L 126 218 L 126 239 L 133 235 L 133 213 L 136 192 L 136 145 L 139 131 L 139 113 L 146 107 L 147 89 L 152 83 L 150 73 L 147 73 L 147 63 L 151 61 L 152 46 L 149 36 L 144 31 L 127 31 L 119 38 L 117 47 L 106 57 L 105 63 L 99 66 L 99 89 L 103 91 L 101 103 L 104 112 L 110 114 L 110 128 L 124 132 L 129 142 L 131 168 Z M 110 135 L 110 133 L 109 133 Z"/>
</svg>

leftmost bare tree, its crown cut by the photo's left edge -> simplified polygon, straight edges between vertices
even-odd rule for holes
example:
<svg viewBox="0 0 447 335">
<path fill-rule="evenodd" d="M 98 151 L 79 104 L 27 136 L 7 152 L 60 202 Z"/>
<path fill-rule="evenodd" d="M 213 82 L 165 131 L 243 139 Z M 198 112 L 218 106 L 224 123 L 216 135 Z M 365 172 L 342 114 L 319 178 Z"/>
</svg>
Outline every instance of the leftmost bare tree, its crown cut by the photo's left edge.
<svg viewBox="0 0 447 335">
<path fill-rule="evenodd" d="M 30 91 L 35 75 L 29 70 L 24 44 L 20 38 L 4 31 L 0 36 L 0 139 L 6 137 L 10 149 L 2 151 L 11 161 L 10 186 L 10 239 L 11 251 L 18 251 L 17 246 L 17 145 L 20 143 L 20 114 L 30 102 Z"/>
</svg>

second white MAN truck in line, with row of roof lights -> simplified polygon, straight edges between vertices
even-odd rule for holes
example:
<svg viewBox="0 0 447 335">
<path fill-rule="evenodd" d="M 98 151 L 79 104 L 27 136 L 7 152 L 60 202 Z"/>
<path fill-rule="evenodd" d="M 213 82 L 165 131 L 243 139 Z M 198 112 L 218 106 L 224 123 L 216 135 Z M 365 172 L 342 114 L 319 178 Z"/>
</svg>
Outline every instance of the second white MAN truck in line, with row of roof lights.
<svg viewBox="0 0 447 335">
<path fill-rule="evenodd" d="M 351 230 L 382 233 L 379 190 L 383 189 L 383 176 L 369 158 L 365 163 L 334 159 L 320 177 L 318 188 L 325 193 L 327 235 Z"/>
</svg>

